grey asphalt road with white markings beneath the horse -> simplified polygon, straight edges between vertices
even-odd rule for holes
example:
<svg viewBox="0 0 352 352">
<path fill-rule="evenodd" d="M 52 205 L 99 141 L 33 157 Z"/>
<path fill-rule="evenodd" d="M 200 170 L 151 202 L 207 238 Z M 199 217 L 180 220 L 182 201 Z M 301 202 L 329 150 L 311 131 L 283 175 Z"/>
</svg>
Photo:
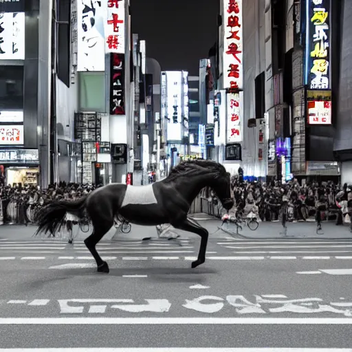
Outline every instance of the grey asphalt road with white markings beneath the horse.
<svg viewBox="0 0 352 352">
<path fill-rule="evenodd" d="M 217 232 L 192 270 L 197 236 L 142 243 L 152 232 L 135 227 L 98 245 L 111 269 L 98 274 L 85 234 L 68 245 L 33 230 L 0 228 L 0 352 L 352 347 L 349 238 Z"/>
</svg>

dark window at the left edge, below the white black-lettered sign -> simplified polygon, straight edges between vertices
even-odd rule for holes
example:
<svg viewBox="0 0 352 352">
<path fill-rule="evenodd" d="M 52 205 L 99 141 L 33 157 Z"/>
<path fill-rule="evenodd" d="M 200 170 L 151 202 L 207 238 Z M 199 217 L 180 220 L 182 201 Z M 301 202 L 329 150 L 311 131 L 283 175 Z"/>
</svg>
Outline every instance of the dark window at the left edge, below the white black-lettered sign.
<svg viewBox="0 0 352 352">
<path fill-rule="evenodd" d="M 0 65 L 0 110 L 23 109 L 23 66 Z"/>
</svg>

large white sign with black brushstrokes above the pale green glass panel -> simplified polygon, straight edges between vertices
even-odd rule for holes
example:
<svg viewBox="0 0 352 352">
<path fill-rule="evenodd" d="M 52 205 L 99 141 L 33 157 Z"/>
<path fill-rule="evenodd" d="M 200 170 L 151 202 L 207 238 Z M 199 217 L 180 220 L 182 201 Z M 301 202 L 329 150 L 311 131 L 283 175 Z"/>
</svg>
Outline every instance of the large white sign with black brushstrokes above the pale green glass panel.
<svg viewBox="0 0 352 352">
<path fill-rule="evenodd" d="M 106 1 L 77 1 L 78 71 L 105 70 Z"/>
</svg>

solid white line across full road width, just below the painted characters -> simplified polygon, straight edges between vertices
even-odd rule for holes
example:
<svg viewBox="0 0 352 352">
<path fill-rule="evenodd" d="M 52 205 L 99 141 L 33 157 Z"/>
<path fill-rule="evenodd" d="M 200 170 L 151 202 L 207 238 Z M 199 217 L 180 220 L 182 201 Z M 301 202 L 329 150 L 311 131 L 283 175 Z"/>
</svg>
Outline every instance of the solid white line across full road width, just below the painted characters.
<svg viewBox="0 0 352 352">
<path fill-rule="evenodd" d="M 123 307 L 121 305 L 120 307 Z M 352 325 L 352 318 L 0 318 L 0 325 Z M 1 351 L 1 350 L 0 350 Z M 12 349 L 13 351 L 13 349 Z M 49 349 L 45 349 L 49 351 Z M 87 351 L 87 349 L 85 349 Z M 155 349 L 153 349 L 155 351 Z M 204 351 L 204 349 L 202 349 Z M 208 351 L 208 349 L 206 349 Z M 223 352 L 224 350 L 221 349 Z M 283 349 L 280 349 L 282 352 Z M 321 349 L 319 349 L 321 351 Z"/>
</svg>

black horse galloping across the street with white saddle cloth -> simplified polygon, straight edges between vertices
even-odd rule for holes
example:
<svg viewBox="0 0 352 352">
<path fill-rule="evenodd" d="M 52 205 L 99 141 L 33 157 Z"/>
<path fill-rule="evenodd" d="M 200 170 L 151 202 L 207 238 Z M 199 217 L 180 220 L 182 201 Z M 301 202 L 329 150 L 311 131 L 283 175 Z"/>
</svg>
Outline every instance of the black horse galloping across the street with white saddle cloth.
<svg viewBox="0 0 352 352">
<path fill-rule="evenodd" d="M 162 181 L 147 186 L 108 184 L 97 188 L 87 197 L 76 201 L 53 201 L 41 208 L 36 215 L 41 232 L 55 232 L 61 227 L 66 212 L 84 217 L 85 212 L 93 223 L 93 233 L 85 245 L 96 259 L 98 272 L 109 272 L 109 266 L 96 251 L 96 244 L 113 226 L 113 219 L 121 217 L 137 225 L 170 223 L 174 228 L 194 232 L 201 236 L 199 254 L 192 268 L 206 261 L 208 231 L 188 217 L 192 201 L 202 188 L 210 187 L 219 197 L 223 208 L 230 210 L 230 174 L 225 168 L 210 160 L 182 162 Z"/>
</svg>

